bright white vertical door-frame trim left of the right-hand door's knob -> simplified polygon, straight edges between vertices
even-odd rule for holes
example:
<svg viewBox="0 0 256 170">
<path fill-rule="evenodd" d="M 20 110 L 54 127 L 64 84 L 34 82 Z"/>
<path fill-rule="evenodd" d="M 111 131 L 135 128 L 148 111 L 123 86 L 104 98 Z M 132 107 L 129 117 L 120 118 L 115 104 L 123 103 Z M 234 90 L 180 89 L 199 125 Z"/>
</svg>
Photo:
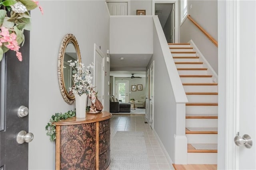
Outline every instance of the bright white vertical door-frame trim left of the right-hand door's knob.
<svg viewBox="0 0 256 170">
<path fill-rule="evenodd" d="M 226 141 L 225 141 L 225 169 L 238 169 L 238 147 L 234 145 L 234 136 L 238 128 L 236 119 L 239 110 L 236 103 L 239 100 L 239 91 L 236 86 L 236 76 L 239 72 L 236 69 L 239 61 L 239 2 L 226 1 Z M 224 57 L 224 56 L 222 56 Z M 218 140 L 220 141 L 220 140 Z"/>
</svg>

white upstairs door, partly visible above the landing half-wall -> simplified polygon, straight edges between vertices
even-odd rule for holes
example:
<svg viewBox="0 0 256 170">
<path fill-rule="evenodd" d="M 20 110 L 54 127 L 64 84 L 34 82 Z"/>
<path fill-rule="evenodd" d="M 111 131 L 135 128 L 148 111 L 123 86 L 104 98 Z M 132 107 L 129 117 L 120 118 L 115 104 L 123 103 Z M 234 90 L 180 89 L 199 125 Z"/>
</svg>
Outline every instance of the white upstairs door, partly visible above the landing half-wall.
<svg viewBox="0 0 256 170">
<path fill-rule="evenodd" d="M 127 16 L 127 2 L 107 2 L 108 10 L 112 16 Z"/>
</svg>

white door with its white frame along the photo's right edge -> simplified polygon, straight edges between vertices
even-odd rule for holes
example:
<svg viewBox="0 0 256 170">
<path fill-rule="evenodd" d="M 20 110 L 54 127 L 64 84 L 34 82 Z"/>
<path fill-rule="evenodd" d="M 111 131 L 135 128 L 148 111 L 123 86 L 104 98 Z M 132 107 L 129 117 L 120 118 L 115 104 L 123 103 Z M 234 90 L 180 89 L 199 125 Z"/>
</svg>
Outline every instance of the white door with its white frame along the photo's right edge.
<svg viewBox="0 0 256 170">
<path fill-rule="evenodd" d="M 224 28 L 220 25 L 218 33 L 226 36 L 222 39 L 226 38 L 226 43 L 221 41 L 219 44 L 219 75 L 223 75 L 219 77 L 219 88 L 224 92 L 219 98 L 223 102 L 219 105 L 219 115 L 226 115 L 219 120 L 223 129 L 220 129 L 220 134 L 218 132 L 218 149 L 222 149 L 218 154 L 218 168 L 255 170 L 256 1 L 227 1 L 222 7 L 218 15 L 221 21 L 224 18 L 222 23 L 226 25 Z M 226 132 L 225 136 L 222 130 Z M 240 137 L 245 134 L 251 137 L 251 148 L 234 144 L 238 132 Z M 223 149 L 221 145 L 226 147 Z M 222 158 L 225 158 L 224 163 Z"/>
</svg>

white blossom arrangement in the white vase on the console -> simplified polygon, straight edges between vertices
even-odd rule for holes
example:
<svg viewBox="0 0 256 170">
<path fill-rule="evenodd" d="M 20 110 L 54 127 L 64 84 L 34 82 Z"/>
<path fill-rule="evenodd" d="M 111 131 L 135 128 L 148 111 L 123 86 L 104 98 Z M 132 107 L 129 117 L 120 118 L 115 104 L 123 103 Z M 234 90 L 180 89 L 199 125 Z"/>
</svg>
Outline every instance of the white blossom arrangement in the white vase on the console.
<svg viewBox="0 0 256 170">
<path fill-rule="evenodd" d="M 80 63 L 78 60 L 72 63 L 72 60 L 68 61 L 69 66 L 72 67 L 72 80 L 74 86 L 70 87 L 69 90 L 74 94 L 81 96 L 86 93 L 88 96 L 92 96 L 93 84 L 92 84 L 92 74 L 91 69 L 94 69 L 94 64 L 90 64 L 85 68 L 83 63 Z"/>
</svg>

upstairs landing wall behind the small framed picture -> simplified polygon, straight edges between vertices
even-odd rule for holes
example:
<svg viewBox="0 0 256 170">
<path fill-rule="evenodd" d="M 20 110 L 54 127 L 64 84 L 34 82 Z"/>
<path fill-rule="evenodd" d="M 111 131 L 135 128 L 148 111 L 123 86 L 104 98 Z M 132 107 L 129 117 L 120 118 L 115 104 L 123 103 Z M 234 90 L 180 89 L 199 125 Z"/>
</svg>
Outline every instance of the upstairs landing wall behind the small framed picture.
<svg viewBox="0 0 256 170">
<path fill-rule="evenodd" d="M 152 15 L 152 0 L 131 0 L 130 15 L 136 15 L 137 10 L 146 10 L 146 15 Z"/>
</svg>

